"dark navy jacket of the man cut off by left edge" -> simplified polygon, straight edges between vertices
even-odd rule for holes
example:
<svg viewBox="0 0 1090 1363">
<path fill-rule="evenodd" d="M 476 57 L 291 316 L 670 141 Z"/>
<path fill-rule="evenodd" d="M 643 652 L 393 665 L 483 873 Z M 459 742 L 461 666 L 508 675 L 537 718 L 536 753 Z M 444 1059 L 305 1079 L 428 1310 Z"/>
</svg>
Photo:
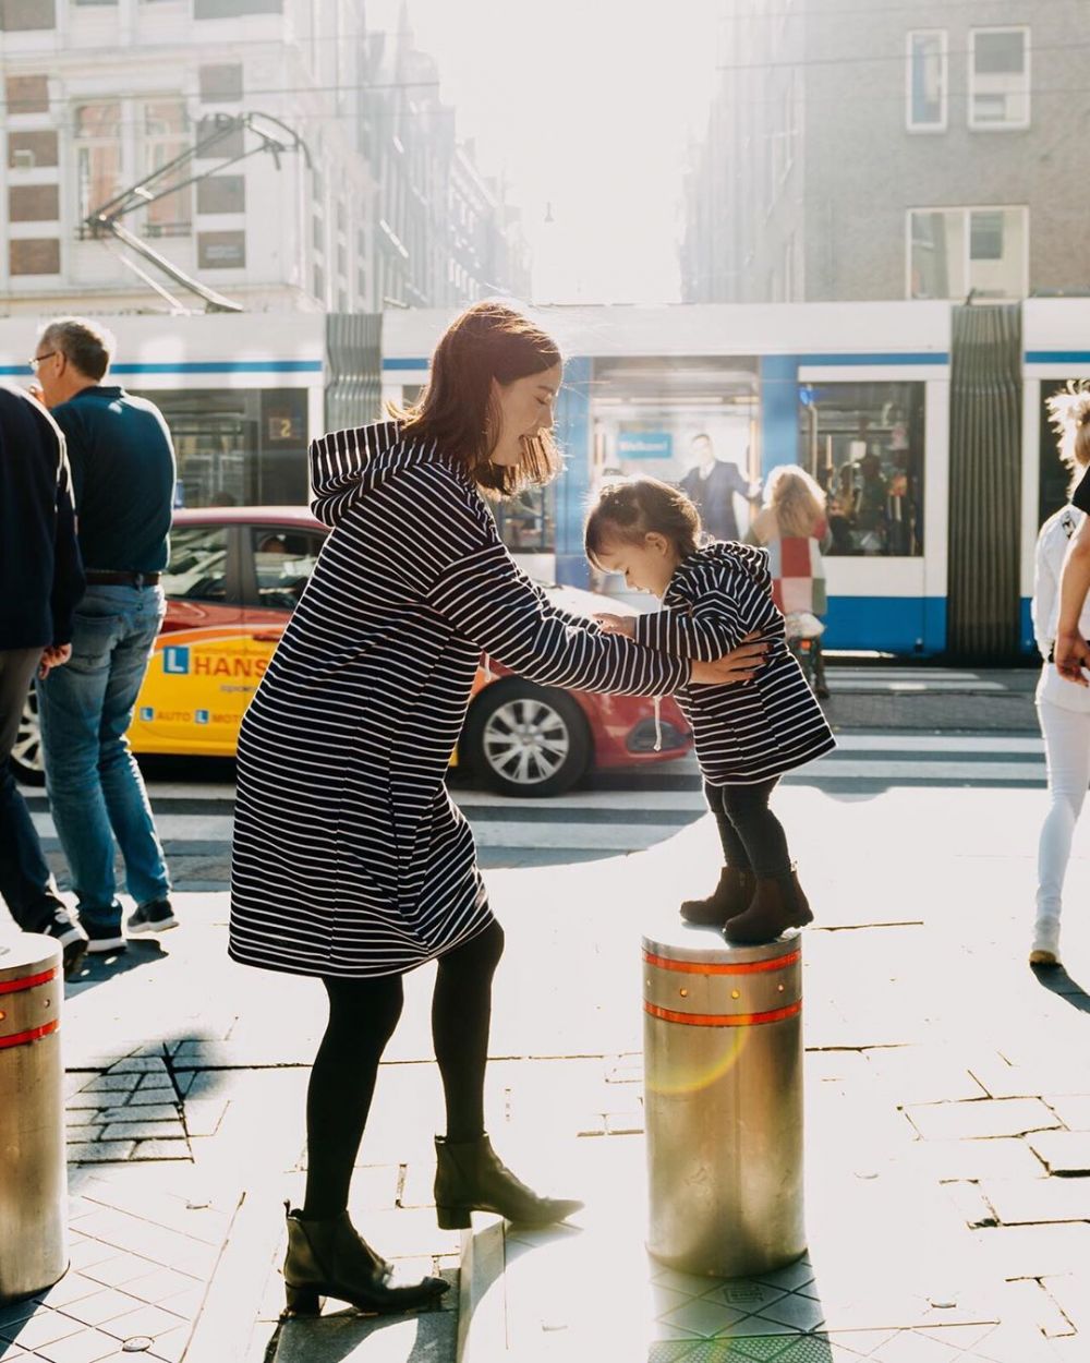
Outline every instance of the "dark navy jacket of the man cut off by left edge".
<svg viewBox="0 0 1090 1363">
<path fill-rule="evenodd" d="M 64 438 L 33 398 L 0 384 L 0 649 L 69 643 L 82 596 Z"/>
</svg>

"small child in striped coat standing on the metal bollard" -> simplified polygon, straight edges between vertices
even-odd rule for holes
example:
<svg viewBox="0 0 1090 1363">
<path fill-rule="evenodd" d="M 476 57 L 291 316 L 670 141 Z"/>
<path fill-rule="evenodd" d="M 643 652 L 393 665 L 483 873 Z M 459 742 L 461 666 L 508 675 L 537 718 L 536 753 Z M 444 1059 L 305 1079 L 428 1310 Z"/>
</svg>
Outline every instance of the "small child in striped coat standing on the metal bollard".
<svg viewBox="0 0 1090 1363">
<path fill-rule="evenodd" d="M 605 488 L 586 523 L 587 557 L 653 592 L 662 611 L 600 616 L 602 627 L 681 658 L 714 658 L 759 634 L 764 667 L 738 686 L 692 686 L 677 701 L 723 848 L 719 883 L 681 905 L 688 923 L 722 925 L 728 942 L 770 942 L 813 920 L 788 840 L 768 799 L 783 771 L 835 746 L 824 716 L 783 641 L 768 555 L 734 541 L 698 548 L 692 502 L 657 478 Z"/>
</svg>

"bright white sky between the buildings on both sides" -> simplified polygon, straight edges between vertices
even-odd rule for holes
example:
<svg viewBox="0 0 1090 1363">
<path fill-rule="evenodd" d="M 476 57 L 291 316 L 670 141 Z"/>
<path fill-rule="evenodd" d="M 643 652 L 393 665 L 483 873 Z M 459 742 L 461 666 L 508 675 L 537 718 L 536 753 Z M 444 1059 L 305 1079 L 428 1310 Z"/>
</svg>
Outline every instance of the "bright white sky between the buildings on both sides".
<svg viewBox="0 0 1090 1363">
<path fill-rule="evenodd" d="M 409 0 L 459 138 L 474 140 L 485 174 L 507 177 L 523 210 L 534 255 L 525 301 L 680 297 L 681 176 L 707 114 L 718 8 Z"/>
</svg>

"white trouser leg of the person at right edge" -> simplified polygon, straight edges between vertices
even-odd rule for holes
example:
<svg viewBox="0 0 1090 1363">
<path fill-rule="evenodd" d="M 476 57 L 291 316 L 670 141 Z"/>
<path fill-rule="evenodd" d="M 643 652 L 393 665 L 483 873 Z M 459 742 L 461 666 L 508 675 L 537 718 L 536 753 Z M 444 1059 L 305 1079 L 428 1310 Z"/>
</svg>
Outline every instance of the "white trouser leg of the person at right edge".
<svg viewBox="0 0 1090 1363">
<path fill-rule="evenodd" d="M 1045 736 L 1049 811 L 1037 853 L 1037 917 L 1059 919 L 1071 838 L 1090 784 L 1090 714 L 1038 701 Z"/>
</svg>

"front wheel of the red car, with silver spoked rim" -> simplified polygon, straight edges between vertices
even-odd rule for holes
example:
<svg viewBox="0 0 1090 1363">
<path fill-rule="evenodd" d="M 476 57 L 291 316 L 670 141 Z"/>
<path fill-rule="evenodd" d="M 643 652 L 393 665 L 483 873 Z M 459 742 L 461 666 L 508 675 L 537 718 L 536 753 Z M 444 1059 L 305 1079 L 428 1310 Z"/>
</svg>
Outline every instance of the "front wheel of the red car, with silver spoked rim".
<svg viewBox="0 0 1090 1363">
<path fill-rule="evenodd" d="M 570 695 L 512 677 L 477 696 L 461 754 L 501 795 L 561 795 L 586 774 L 593 744 Z"/>
</svg>

